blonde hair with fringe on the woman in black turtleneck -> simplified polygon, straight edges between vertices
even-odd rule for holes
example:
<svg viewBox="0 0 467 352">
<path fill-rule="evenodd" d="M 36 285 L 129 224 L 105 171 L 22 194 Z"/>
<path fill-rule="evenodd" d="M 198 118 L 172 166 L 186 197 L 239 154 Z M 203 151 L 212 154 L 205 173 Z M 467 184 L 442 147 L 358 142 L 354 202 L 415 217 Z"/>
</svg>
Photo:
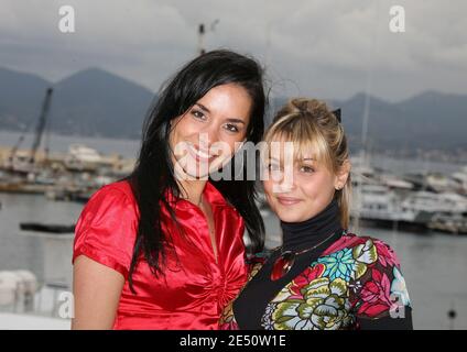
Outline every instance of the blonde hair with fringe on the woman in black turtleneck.
<svg viewBox="0 0 467 352">
<path fill-rule="evenodd" d="M 294 98 L 282 107 L 263 140 L 270 145 L 274 139 L 293 142 L 295 160 L 302 160 L 306 152 L 313 151 L 316 161 L 323 163 L 334 175 L 349 157 L 343 125 L 327 105 L 316 99 Z M 349 174 L 344 188 L 336 190 L 344 229 L 349 227 L 350 194 Z"/>
</svg>

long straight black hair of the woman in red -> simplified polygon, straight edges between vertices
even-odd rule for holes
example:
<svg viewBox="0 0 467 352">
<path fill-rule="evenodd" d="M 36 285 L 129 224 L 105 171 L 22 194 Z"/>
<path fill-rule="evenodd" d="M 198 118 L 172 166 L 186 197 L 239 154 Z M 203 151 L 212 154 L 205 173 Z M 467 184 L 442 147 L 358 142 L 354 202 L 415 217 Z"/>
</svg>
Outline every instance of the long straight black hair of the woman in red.
<svg viewBox="0 0 467 352">
<path fill-rule="evenodd" d="M 163 274 L 165 244 L 170 241 L 161 229 L 161 207 L 166 207 L 177 223 L 174 211 L 164 197 L 166 190 L 171 190 L 176 197 L 181 195 L 169 145 L 171 121 L 185 113 L 211 88 L 226 84 L 237 84 L 248 91 L 252 109 L 247 141 L 258 143 L 264 130 L 267 106 L 262 68 L 254 59 L 230 51 L 208 52 L 186 64 L 162 87 L 156 102 L 149 110 L 135 167 L 124 178 L 130 182 L 140 211 L 129 272 L 129 284 L 134 294 L 132 274 L 141 254 L 153 274 Z M 234 165 L 235 156 L 230 163 Z M 256 182 L 210 179 L 210 183 L 243 218 L 251 250 L 261 251 L 264 245 L 264 223 L 254 201 Z"/>
</svg>

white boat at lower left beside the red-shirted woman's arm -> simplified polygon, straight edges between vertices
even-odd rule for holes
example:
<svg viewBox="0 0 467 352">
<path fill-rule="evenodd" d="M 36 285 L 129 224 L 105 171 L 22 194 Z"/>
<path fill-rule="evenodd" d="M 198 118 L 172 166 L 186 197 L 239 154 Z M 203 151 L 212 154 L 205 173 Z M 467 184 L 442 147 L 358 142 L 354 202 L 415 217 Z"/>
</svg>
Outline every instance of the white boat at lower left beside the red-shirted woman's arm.
<svg viewBox="0 0 467 352">
<path fill-rule="evenodd" d="M 0 330 L 69 330 L 73 316 L 73 234 L 21 231 L 43 241 L 44 277 L 0 271 Z"/>
</svg>

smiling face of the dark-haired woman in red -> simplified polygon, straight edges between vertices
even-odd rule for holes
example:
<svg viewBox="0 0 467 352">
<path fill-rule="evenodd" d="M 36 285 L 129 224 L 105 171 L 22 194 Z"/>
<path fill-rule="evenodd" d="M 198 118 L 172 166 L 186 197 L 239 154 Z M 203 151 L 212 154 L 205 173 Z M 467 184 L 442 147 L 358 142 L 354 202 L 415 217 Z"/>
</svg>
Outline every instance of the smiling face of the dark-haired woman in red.
<svg viewBox="0 0 467 352">
<path fill-rule="evenodd" d="M 247 136 L 252 101 L 235 84 L 217 86 L 172 121 L 170 145 L 178 177 L 205 178 L 226 164 Z"/>
</svg>

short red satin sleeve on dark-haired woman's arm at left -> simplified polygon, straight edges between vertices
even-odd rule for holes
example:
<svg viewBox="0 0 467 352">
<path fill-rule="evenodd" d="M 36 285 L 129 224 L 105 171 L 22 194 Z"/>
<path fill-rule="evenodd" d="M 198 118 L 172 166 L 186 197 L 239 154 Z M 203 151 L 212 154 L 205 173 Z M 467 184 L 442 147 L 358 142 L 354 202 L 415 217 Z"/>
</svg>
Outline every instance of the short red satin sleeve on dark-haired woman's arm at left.
<svg viewBox="0 0 467 352">
<path fill-rule="evenodd" d="M 113 184 L 93 195 L 75 227 L 73 263 L 79 255 L 104 264 L 128 278 L 138 231 L 137 204 Z"/>
</svg>

